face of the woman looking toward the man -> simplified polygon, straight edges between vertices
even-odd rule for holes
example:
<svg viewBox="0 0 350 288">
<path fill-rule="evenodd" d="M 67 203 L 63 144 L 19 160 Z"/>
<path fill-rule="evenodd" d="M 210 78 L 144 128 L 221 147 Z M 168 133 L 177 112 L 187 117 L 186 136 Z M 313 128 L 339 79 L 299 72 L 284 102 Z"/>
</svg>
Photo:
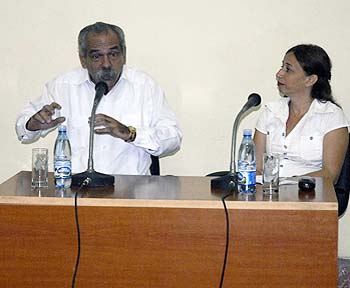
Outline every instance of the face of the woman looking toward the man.
<svg viewBox="0 0 350 288">
<path fill-rule="evenodd" d="M 309 76 L 305 75 L 293 52 L 284 56 L 282 67 L 276 74 L 278 90 L 285 96 L 310 94 Z"/>
</svg>

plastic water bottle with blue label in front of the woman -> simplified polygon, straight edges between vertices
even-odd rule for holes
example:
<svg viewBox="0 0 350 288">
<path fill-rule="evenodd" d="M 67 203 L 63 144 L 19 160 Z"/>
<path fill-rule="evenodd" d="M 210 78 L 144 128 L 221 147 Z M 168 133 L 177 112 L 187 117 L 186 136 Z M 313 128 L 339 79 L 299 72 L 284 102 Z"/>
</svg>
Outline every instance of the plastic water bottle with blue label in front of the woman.
<svg viewBox="0 0 350 288">
<path fill-rule="evenodd" d="M 256 155 L 252 130 L 244 129 L 238 152 L 238 191 L 252 194 L 256 191 Z"/>
</svg>

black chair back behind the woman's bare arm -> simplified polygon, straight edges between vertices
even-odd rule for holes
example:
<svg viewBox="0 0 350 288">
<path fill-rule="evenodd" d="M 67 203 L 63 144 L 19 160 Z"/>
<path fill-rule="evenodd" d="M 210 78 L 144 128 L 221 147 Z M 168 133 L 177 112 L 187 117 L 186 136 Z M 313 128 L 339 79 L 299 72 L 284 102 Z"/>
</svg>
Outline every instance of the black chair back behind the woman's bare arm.
<svg viewBox="0 0 350 288">
<path fill-rule="evenodd" d="M 346 151 L 343 167 L 341 169 L 338 182 L 334 185 L 335 193 L 338 199 L 338 216 L 346 211 L 349 203 L 350 192 L 350 141 Z"/>
</svg>

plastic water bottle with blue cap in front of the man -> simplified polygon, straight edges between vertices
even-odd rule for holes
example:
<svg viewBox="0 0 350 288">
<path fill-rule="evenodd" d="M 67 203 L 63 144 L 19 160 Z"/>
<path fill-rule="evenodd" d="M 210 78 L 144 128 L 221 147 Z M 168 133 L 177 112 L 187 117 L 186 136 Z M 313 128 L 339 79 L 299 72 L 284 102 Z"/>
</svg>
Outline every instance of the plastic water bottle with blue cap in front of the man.
<svg viewBox="0 0 350 288">
<path fill-rule="evenodd" d="M 54 149 L 54 177 L 56 188 L 69 188 L 72 183 L 72 150 L 66 126 L 60 125 Z"/>
</svg>

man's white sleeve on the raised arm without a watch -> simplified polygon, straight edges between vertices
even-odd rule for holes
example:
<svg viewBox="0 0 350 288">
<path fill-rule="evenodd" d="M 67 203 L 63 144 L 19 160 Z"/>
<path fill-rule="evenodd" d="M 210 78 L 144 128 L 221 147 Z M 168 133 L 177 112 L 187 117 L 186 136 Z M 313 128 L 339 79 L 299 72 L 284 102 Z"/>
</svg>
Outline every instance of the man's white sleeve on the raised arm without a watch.
<svg viewBox="0 0 350 288">
<path fill-rule="evenodd" d="M 16 133 L 18 140 L 22 143 L 33 143 L 37 141 L 40 136 L 46 135 L 51 129 L 43 131 L 29 131 L 26 129 L 26 124 L 30 117 L 38 112 L 44 105 L 54 102 L 50 95 L 47 85 L 45 85 L 42 96 L 34 101 L 31 101 L 23 111 L 17 116 Z"/>
</svg>

